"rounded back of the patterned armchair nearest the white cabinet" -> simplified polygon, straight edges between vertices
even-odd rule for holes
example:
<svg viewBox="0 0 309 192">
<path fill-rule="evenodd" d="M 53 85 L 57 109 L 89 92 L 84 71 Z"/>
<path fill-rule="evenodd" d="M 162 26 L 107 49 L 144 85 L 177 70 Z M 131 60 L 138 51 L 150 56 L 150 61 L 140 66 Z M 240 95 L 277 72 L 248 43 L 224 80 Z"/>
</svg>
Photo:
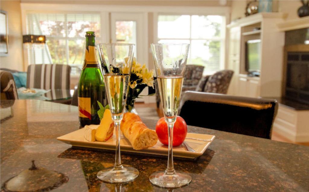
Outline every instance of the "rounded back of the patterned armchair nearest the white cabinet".
<svg viewBox="0 0 309 192">
<path fill-rule="evenodd" d="M 234 71 L 222 70 L 209 77 L 204 92 L 226 94 Z"/>
</svg>

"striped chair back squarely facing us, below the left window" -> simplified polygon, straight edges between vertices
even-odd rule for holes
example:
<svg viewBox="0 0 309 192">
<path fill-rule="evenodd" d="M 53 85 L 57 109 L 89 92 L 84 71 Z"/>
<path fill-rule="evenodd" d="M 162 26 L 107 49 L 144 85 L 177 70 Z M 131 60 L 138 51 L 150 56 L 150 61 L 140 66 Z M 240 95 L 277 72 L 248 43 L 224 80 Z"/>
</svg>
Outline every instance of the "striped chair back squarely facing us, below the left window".
<svg viewBox="0 0 309 192">
<path fill-rule="evenodd" d="M 27 88 L 70 89 L 71 67 L 64 64 L 32 64 L 27 70 Z"/>
</svg>

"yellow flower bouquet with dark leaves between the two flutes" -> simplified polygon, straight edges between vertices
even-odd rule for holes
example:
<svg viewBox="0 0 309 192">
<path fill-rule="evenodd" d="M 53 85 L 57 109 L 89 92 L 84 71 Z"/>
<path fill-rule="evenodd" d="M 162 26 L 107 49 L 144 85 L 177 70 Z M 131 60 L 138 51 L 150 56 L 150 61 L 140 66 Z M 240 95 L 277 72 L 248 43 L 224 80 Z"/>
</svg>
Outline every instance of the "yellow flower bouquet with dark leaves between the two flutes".
<svg viewBox="0 0 309 192">
<path fill-rule="evenodd" d="M 140 93 L 144 88 L 148 87 L 148 95 L 155 94 L 154 80 L 154 70 L 148 70 L 146 64 L 141 65 L 134 57 L 129 82 L 128 98 L 125 105 L 129 112 L 135 112 L 135 110 L 132 111 L 134 109 L 135 100 L 136 98 L 140 98 Z"/>
</svg>

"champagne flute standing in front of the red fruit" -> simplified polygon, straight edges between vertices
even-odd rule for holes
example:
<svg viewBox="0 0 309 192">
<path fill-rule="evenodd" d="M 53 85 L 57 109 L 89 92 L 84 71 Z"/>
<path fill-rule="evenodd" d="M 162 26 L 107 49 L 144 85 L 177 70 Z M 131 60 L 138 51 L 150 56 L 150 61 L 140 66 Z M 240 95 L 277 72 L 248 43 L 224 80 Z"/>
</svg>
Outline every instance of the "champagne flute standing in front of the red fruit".
<svg viewBox="0 0 309 192">
<path fill-rule="evenodd" d="M 167 169 L 151 174 L 149 180 L 159 187 L 176 188 L 188 185 L 192 180 L 190 175 L 176 172 L 173 165 L 173 127 L 180 102 L 189 44 L 155 43 L 151 44 L 151 50 L 164 118 L 168 126 L 168 160 Z"/>
</svg>

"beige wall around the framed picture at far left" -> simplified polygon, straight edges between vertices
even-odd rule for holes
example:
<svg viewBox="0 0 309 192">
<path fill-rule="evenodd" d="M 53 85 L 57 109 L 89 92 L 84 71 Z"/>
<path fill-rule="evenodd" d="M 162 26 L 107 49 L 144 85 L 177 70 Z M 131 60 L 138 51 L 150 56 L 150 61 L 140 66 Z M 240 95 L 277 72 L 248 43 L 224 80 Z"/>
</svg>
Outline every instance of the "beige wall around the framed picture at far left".
<svg viewBox="0 0 309 192">
<path fill-rule="evenodd" d="M 8 55 L 0 58 L 0 67 L 24 71 L 20 1 L 0 1 L 0 7 L 7 12 L 9 43 Z"/>
</svg>

